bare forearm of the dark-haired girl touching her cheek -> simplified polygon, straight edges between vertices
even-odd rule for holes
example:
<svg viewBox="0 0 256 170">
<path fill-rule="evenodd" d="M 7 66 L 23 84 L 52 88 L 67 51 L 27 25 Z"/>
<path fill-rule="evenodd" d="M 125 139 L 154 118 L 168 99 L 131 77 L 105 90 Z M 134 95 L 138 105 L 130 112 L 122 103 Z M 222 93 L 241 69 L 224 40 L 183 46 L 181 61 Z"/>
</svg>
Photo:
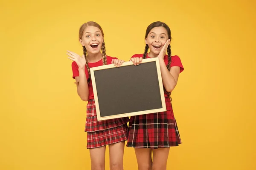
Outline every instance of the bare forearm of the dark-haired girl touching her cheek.
<svg viewBox="0 0 256 170">
<path fill-rule="evenodd" d="M 175 81 L 175 78 L 172 76 L 172 74 L 167 69 L 164 60 L 159 58 L 159 63 L 160 63 L 163 86 L 167 92 L 172 92 L 172 90 L 175 88 L 177 82 Z"/>
</svg>

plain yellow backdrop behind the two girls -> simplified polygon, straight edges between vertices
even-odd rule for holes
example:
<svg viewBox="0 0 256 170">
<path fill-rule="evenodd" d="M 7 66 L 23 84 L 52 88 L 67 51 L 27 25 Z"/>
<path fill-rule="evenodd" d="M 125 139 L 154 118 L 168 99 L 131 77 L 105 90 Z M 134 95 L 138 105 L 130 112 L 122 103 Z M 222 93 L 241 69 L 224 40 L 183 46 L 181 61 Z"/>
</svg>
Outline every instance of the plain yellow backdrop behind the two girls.
<svg viewBox="0 0 256 170">
<path fill-rule="evenodd" d="M 160 20 L 185 67 L 172 93 L 183 144 L 168 170 L 255 170 L 255 9 L 253 0 L 1 1 L 0 169 L 89 170 L 87 103 L 66 50 L 82 54 L 78 30 L 93 20 L 107 55 L 128 61 Z M 107 152 L 106 170 L 108 161 Z M 137 169 L 132 148 L 124 167 Z"/>
</svg>

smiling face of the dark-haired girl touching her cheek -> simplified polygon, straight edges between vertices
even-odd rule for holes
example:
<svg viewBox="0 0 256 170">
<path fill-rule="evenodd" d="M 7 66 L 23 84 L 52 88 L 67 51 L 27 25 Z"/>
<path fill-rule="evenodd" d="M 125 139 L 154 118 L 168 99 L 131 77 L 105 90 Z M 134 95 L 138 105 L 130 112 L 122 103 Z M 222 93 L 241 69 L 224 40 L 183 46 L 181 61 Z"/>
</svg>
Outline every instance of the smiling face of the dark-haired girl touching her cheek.
<svg viewBox="0 0 256 170">
<path fill-rule="evenodd" d="M 151 56 L 158 55 L 168 39 L 168 32 L 163 26 L 157 26 L 151 29 L 145 38 L 145 42 L 150 49 L 149 54 Z"/>
</svg>

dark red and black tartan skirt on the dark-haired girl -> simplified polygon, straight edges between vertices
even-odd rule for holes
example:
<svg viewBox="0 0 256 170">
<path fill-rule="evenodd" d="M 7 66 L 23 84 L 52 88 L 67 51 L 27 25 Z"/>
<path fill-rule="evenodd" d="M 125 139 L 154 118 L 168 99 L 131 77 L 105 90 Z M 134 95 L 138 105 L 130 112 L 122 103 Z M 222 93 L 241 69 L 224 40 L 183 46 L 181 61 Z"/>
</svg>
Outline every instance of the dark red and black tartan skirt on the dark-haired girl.
<svg viewBox="0 0 256 170">
<path fill-rule="evenodd" d="M 169 97 L 165 97 L 166 112 L 131 116 L 127 147 L 163 148 L 181 144 L 180 134 Z"/>
</svg>

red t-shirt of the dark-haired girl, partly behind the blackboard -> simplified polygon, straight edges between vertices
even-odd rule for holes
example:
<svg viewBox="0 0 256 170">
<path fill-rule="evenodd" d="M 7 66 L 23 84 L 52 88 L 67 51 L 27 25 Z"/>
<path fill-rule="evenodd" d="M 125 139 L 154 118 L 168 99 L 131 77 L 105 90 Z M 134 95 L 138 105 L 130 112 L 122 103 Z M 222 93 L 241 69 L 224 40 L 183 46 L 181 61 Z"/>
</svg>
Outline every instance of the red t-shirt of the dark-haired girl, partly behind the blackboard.
<svg viewBox="0 0 256 170">
<path fill-rule="evenodd" d="M 143 54 L 135 54 L 135 55 L 133 55 L 131 58 L 136 58 L 136 57 L 138 57 L 138 58 L 143 57 Z M 148 57 L 148 53 L 147 53 L 146 58 L 150 58 L 150 57 Z M 183 72 L 184 67 L 183 67 L 183 65 L 182 65 L 182 63 L 181 63 L 181 61 L 180 61 L 179 56 L 174 55 L 174 56 L 172 56 L 171 59 L 172 59 L 172 61 L 171 61 L 170 67 L 172 67 L 172 66 L 179 66 L 179 67 L 180 67 L 180 73 Z M 130 59 L 130 60 L 131 60 L 131 59 Z M 164 58 L 163 58 L 163 60 L 164 60 L 164 62 L 165 62 L 165 64 L 166 64 L 166 66 L 167 66 L 167 65 L 168 65 L 168 55 L 165 55 Z M 167 96 L 167 94 L 164 94 L 164 95 Z"/>
</svg>

